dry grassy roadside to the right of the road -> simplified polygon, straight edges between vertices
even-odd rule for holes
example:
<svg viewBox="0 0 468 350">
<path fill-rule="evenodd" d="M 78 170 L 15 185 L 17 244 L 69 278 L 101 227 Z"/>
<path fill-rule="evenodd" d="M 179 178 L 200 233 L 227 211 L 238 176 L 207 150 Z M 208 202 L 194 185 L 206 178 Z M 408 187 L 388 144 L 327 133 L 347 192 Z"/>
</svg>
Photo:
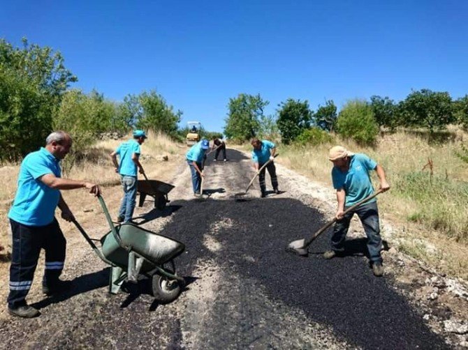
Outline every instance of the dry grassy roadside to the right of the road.
<svg viewBox="0 0 468 350">
<path fill-rule="evenodd" d="M 455 156 L 460 139 L 468 135 L 458 131 L 457 139 L 430 144 L 425 135 L 397 132 L 380 137 L 374 148 L 339 139 L 319 146 L 280 145 L 277 162 L 331 189 L 330 146 L 370 155 L 386 169 L 392 186 L 379 198 L 379 208 L 395 228 L 393 246 L 441 273 L 468 280 L 468 165 Z"/>
</svg>

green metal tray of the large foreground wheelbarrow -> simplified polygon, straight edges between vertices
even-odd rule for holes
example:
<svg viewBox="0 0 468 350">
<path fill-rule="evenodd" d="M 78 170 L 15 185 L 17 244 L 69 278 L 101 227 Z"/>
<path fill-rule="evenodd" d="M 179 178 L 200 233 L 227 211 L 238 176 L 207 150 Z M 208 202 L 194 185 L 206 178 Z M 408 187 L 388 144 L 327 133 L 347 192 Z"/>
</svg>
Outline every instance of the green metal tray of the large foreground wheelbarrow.
<svg viewBox="0 0 468 350">
<path fill-rule="evenodd" d="M 117 266 L 125 267 L 129 264 L 129 250 L 147 260 L 141 272 L 152 270 L 154 265 L 163 265 L 185 250 L 184 243 L 131 223 L 119 225 L 115 229 L 123 246 L 119 245 L 112 231 L 109 231 L 101 238 L 101 250 L 104 257 Z M 151 264 L 148 264 L 148 261 Z"/>
</svg>

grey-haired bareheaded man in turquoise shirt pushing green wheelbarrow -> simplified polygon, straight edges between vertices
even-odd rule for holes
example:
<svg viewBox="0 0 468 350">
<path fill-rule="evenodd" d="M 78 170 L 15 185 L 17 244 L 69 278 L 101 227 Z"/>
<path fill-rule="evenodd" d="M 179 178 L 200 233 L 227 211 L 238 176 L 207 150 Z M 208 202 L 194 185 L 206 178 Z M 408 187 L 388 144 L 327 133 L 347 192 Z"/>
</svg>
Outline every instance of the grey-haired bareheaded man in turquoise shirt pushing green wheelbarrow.
<svg viewBox="0 0 468 350">
<path fill-rule="evenodd" d="M 64 291 L 69 284 L 59 280 L 64 268 L 66 239 L 55 219 L 57 206 L 61 218 L 75 220 L 60 190 L 87 188 L 95 196 L 101 190 L 95 183 L 61 178 L 60 160 L 72 145 L 71 136 L 64 131 L 54 131 L 39 151 L 29 153 L 21 163 L 15 201 L 10 208 L 13 251 L 10 266 L 10 294 L 8 312 L 18 317 L 36 317 L 40 314 L 27 305 L 34 271 L 41 249 L 45 250 L 43 294 L 51 296 Z"/>
</svg>

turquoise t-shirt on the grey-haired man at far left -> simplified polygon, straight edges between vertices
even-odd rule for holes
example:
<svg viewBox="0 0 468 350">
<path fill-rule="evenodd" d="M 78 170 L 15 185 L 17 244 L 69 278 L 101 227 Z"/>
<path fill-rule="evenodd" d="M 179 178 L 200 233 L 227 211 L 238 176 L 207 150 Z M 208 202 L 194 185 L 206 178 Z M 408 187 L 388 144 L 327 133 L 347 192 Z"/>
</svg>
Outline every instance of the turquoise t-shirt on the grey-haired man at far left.
<svg viewBox="0 0 468 350">
<path fill-rule="evenodd" d="M 45 185 L 45 174 L 61 176 L 59 160 L 47 149 L 29 153 L 21 163 L 15 201 L 8 218 L 28 226 L 45 226 L 54 220 L 60 191 Z"/>
</svg>

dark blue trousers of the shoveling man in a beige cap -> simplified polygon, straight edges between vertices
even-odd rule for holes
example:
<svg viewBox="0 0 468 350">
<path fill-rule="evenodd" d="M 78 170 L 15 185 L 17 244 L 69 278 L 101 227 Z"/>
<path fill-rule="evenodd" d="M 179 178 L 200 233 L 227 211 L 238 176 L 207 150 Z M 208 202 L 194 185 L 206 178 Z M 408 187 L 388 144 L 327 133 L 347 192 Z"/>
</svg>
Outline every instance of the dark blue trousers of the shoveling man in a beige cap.
<svg viewBox="0 0 468 350">
<path fill-rule="evenodd" d="M 346 210 L 346 208 L 344 209 Z M 332 234 L 332 250 L 335 250 L 335 252 L 344 251 L 344 240 L 348 233 L 349 222 L 351 222 L 351 218 L 355 213 L 362 222 L 367 236 L 367 250 L 369 251 L 370 261 L 373 263 L 382 262 L 380 254 L 382 238 L 380 236 L 379 209 L 376 201 L 358 206 L 358 208 L 344 215 L 342 220 L 335 223 Z"/>
</svg>

